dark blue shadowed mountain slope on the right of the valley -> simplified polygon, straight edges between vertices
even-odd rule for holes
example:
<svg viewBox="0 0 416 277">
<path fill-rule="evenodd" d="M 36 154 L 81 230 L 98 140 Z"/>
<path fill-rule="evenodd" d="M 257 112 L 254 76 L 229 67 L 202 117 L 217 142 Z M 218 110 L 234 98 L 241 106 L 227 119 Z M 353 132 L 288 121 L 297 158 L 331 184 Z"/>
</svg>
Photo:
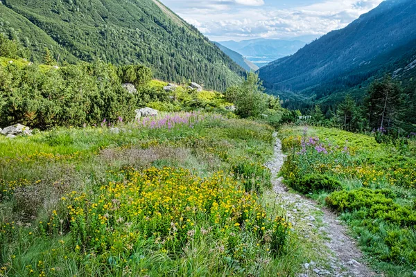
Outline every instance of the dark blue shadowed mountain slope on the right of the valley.
<svg viewBox="0 0 416 277">
<path fill-rule="evenodd" d="M 269 91 L 317 99 L 366 86 L 384 73 L 410 82 L 416 71 L 416 2 L 386 0 L 347 27 L 259 70 Z"/>
</svg>

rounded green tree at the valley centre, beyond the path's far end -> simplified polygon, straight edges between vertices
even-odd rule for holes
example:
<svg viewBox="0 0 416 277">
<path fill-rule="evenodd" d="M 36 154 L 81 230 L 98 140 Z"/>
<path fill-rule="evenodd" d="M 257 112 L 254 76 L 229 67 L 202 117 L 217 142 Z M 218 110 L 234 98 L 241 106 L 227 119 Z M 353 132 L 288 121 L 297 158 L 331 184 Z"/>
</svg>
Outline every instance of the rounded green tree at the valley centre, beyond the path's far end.
<svg viewBox="0 0 416 277">
<path fill-rule="evenodd" d="M 267 107 L 267 96 L 259 75 L 248 73 L 246 80 L 238 87 L 231 87 L 225 93 L 227 100 L 234 100 L 236 114 L 241 118 L 256 118 Z"/>
</svg>

